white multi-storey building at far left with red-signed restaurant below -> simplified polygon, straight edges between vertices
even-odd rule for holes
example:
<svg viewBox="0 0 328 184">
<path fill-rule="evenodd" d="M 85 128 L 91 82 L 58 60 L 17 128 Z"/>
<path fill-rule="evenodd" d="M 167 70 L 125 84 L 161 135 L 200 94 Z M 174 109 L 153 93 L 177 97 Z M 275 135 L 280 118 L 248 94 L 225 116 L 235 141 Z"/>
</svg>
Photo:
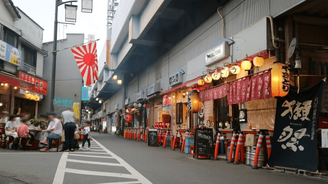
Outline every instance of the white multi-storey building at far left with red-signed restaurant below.
<svg viewBox="0 0 328 184">
<path fill-rule="evenodd" d="M 10 114 L 39 115 L 47 96 L 43 75 L 43 31 L 11 0 L 0 1 L 0 109 Z"/>
</svg>

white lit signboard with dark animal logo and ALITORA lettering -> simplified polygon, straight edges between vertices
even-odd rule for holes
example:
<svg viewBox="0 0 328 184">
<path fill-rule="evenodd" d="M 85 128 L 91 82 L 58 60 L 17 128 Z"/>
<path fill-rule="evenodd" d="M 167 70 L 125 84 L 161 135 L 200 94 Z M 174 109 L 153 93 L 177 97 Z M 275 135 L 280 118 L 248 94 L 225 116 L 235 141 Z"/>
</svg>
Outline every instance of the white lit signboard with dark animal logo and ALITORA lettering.
<svg viewBox="0 0 328 184">
<path fill-rule="evenodd" d="M 219 60 L 229 57 L 228 42 L 222 42 L 220 45 L 205 54 L 205 64 L 209 66 Z"/>
</svg>

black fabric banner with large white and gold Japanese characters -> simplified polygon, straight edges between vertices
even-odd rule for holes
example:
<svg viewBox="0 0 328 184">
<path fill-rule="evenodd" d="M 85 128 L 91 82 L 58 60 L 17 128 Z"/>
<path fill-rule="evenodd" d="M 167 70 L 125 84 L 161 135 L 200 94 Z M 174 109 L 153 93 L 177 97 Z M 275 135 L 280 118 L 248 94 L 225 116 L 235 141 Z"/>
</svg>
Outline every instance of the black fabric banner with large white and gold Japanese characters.
<svg viewBox="0 0 328 184">
<path fill-rule="evenodd" d="M 317 171 L 316 130 L 324 81 L 300 88 L 290 86 L 278 98 L 269 166 Z"/>
</svg>

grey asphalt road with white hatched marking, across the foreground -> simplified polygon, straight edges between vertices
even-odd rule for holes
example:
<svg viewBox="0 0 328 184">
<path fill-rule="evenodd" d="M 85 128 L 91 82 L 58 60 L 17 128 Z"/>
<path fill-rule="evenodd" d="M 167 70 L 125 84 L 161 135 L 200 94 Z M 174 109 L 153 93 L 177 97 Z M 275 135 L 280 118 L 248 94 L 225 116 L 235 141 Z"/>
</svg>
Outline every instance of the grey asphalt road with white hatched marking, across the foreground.
<svg viewBox="0 0 328 184">
<path fill-rule="evenodd" d="M 3 152 L 0 183 L 327 183 L 223 160 L 197 160 L 169 147 L 148 147 L 92 132 L 91 151 Z M 6 149 L 5 149 L 6 150 Z"/>
</svg>

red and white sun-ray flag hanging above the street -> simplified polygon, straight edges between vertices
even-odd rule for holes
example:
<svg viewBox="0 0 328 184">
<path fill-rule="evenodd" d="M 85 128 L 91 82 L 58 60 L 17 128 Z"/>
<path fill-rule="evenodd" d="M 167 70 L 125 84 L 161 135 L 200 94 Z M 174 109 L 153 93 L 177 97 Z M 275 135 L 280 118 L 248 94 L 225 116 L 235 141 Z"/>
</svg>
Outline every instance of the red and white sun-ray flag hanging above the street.
<svg viewBox="0 0 328 184">
<path fill-rule="evenodd" d="M 97 45 L 92 42 L 88 45 L 72 48 L 78 69 L 86 86 L 94 84 L 98 80 Z"/>
</svg>

